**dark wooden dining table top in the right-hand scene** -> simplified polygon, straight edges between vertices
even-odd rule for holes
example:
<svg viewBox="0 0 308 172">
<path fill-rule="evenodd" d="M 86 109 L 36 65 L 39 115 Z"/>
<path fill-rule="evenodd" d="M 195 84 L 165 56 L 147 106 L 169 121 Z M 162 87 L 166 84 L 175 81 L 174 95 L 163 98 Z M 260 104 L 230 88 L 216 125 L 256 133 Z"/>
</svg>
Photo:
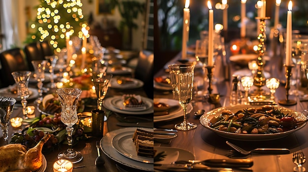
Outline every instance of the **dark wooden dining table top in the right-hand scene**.
<svg viewBox="0 0 308 172">
<path fill-rule="evenodd" d="M 227 47 L 230 46 L 226 44 Z M 243 54 L 245 56 L 245 54 Z M 256 54 L 257 55 L 257 54 Z M 213 83 L 213 91 L 212 94 L 218 94 L 219 95 L 219 102 L 218 103 L 212 103 L 208 98 L 209 95 L 204 96 L 205 98 L 198 98 L 195 93 L 197 91 L 194 91 L 194 89 L 204 89 L 197 86 L 193 87 L 192 91 L 192 99 L 189 103 L 191 105 L 191 108 L 187 112 L 187 121 L 189 123 L 195 123 L 198 126 L 194 129 L 190 130 L 178 130 L 177 132 L 174 132 L 177 134 L 177 137 L 171 139 L 169 142 L 154 142 L 154 149 L 166 151 L 169 154 L 172 154 L 174 151 L 179 151 L 180 155 L 178 155 L 178 158 L 180 160 L 186 160 L 188 161 L 189 158 L 193 158 L 193 160 L 207 160 L 207 159 L 242 159 L 247 158 L 253 161 L 253 165 L 249 168 L 241 168 L 236 169 L 234 168 L 234 171 L 251 171 L 251 172 L 293 172 L 293 168 L 296 167 L 296 165 L 293 163 L 292 156 L 293 153 L 298 150 L 303 150 L 304 154 L 308 155 L 308 126 L 306 125 L 306 122 L 304 123 L 304 126 L 300 129 L 296 130 L 295 132 L 290 132 L 289 134 L 284 135 L 281 138 L 274 138 L 269 139 L 271 135 L 267 138 L 254 138 L 254 139 L 247 139 L 245 136 L 239 138 L 232 137 L 231 135 L 222 135 L 217 134 L 217 132 L 214 132 L 213 130 L 207 128 L 204 126 L 204 124 L 201 124 L 200 119 L 204 119 L 204 116 L 207 116 L 208 114 L 211 114 L 213 112 L 216 112 L 217 115 L 221 114 L 219 111 L 216 111 L 219 108 L 225 108 L 230 109 L 232 108 L 230 106 L 230 88 L 232 84 L 232 75 L 238 74 L 241 76 L 245 75 L 251 75 L 250 70 L 248 70 L 247 66 L 243 67 L 242 64 L 238 64 L 234 61 L 230 61 L 229 57 L 231 56 L 230 52 L 226 53 L 225 57 L 221 57 L 221 59 L 216 59 L 215 61 L 215 70 L 218 71 L 217 74 L 214 74 L 214 77 L 217 78 L 223 78 L 218 79 L 217 82 Z M 282 55 L 283 56 L 283 55 Z M 188 54 L 188 60 L 185 59 L 185 63 L 193 63 L 196 65 L 195 67 L 195 74 L 194 74 L 194 82 L 193 84 L 198 84 L 198 80 L 201 83 L 203 83 L 202 79 L 204 78 L 204 75 L 202 74 L 202 68 L 203 65 L 195 63 L 194 61 L 194 55 L 193 53 Z M 220 57 L 219 57 L 220 58 Z M 225 59 L 224 59 L 225 58 Z M 308 115 L 308 101 L 305 97 L 307 97 L 308 89 L 307 86 L 300 87 L 299 90 L 306 93 L 305 95 L 289 95 L 289 99 L 295 100 L 295 105 L 281 105 L 278 103 L 279 100 L 285 100 L 286 99 L 286 76 L 285 76 L 285 70 L 284 67 L 279 67 L 278 65 L 283 62 L 283 59 L 281 59 L 279 55 L 277 56 L 271 56 L 270 60 L 268 60 L 265 65 L 263 73 L 269 73 L 270 76 L 267 77 L 276 77 L 280 79 L 280 85 L 276 90 L 275 93 L 275 103 L 273 105 L 276 105 L 279 108 L 285 108 L 291 111 L 299 112 L 305 116 L 305 119 Z M 169 77 L 169 69 L 168 65 L 170 64 L 180 64 L 183 63 L 183 59 L 181 57 L 181 54 L 178 54 L 173 59 L 171 59 L 163 69 L 161 69 L 158 73 L 154 75 L 155 77 L 161 77 L 166 76 Z M 247 64 L 246 64 L 247 65 Z M 226 71 L 227 70 L 227 71 Z M 292 74 L 294 74 L 294 69 L 292 69 Z M 201 71 L 201 73 L 200 73 Z M 248 72 L 246 72 L 248 71 Z M 200 76 L 201 75 L 201 76 Z M 215 76 L 216 75 L 216 76 Z M 222 77 L 220 77 L 222 76 Z M 208 76 L 205 76 L 208 78 Z M 256 91 L 257 87 L 252 87 L 250 89 L 250 93 Z M 263 86 L 261 87 L 262 94 L 269 93 L 270 90 Z M 294 86 L 291 86 L 291 90 L 294 89 Z M 290 91 L 291 91 L 290 90 Z M 258 90 L 257 90 L 258 91 Z M 250 94 L 249 93 L 249 94 Z M 244 95 L 244 89 L 242 89 L 242 94 Z M 170 86 L 169 89 L 166 87 L 160 87 L 159 84 L 154 81 L 154 103 L 156 101 L 161 101 L 162 99 L 167 99 L 169 102 L 174 101 L 174 96 L 172 94 L 172 88 Z M 178 101 L 175 100 L 175 101 Z M 164 101 L 168 103 L 168 101 Z M 189 105 L 188 104 L 188 105 Z M 238 106 L 243 107 L 243 109 L 246 106 L 249 106 L 249 103 L 246 104 L 240 104 Z M 256 105 L 258 107 L 263 106 L 262 102 L 259 103 L 259 105 Z M 197 112 L 200 109 L 205 110 L 205 114 L 203 116 L 195 116 L 194 112 Z M 235 112 L 233 112 L 235 113 Z M 165 129 L 174 129 L 175 124 L 183 122 L 183 115 L 178 115 L 176 117 L 166 118 L 166 120 L 161 120 L 161 118 L 156 118 L 154 116 L 154 127 L 155 128 L 165 128 Z M 262 135 L 262 134 L 261 134 Z M 252 150 L 255 148 L 287 148 L 290 150 L 289 153 L 283 153 L 283 154 L 273 154 L 273 153 L 262 153 L 262 154 L 248 154 L 243 155 L 240 153 L 235 153 L 236 151 L 229 147 L 226 142 L 233 143 L 245 150 Z M 169 151 L 168 151 L 169 150 Z M 167 153 L 167 156 L 168 156 Z M 181 155 L 182 153 L 182 155 Z M 234 154 L 235 153 L 235 154 Z M 186 157 L 185 157 L 186 156 Z M 182 158 L 182 159 L 181 159 Z M 178 159 L 178 160 L 179 160 Z M 157 163 L 160 164 L 162 161 L 158 161 Z M 308 164 L 304 163 L 302 165 L 304 168 L 308 168 Z M 157 172 L 159 171 L 159 168 L 155 170 Z M 187 170 L 189 171 L 189 170 Z"/>
</svg>

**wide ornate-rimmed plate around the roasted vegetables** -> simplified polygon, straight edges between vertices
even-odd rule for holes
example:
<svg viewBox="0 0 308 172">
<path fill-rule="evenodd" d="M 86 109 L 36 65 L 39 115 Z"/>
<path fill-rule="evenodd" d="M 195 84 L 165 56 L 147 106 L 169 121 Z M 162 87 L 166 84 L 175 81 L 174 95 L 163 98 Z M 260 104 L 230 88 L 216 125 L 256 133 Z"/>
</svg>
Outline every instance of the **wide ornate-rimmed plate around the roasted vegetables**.
<svg viewBox="0 0 308 172">
<path fill-rule="evenodd" d="M 205 113 L 204 115 L 202 115 L 200 117 L 200 123 L 207 129 L 214 131 L 217 135 L 227 138 L 227 139 L 233 139 L 233 140 L 239 140 L 239 141 L 269 141 L 269 140 L 276 140 L 276 139 L 280 139 L 283 137 L 288 136 L 289 134 L 303 128 L 306 123 L 303 123 L 301 125 L 299 125 L 298 127 L 296 127 L 295 129 L 291 129 L 288 131 L 284 131 L 284 132 L 280 132 L 280 133 L 271 133 L 271 134 L 239 134 L 239 133 L 230 133 L 230 132 L 225 132 L 225 131 L 219 131 L 216 130 L 214 128 L 210 127 L 210 120 L 221 114 L 222 110 L 231 110 L 233 113 L 239 111 L 239 110 L 243 110 L 246 108 L 251 108 L 251 107 L 262 107 L 261 105 L 236 105 L 236 106 L 229 106 L 229 107 L 220 107 L 217 109 L 214 109 L 212 111 L 209 111 L 207 113 Z M 307 117 L 300 112 L 296 112 L 294 110 L 291 109 L 287 109 L 285 107 L 281 107 L 281 106 L 277 106 L 277 105 L 273 105 L 273 107 L 275 107 L 275 109 L 280 110 L 282 113 L 284 114 L 289 114 L 292 115 L 292 117 L 294 117 L 295 119 L 297 119 L 298 121 L 304 121 L 307 119 Z"/>
</svg>

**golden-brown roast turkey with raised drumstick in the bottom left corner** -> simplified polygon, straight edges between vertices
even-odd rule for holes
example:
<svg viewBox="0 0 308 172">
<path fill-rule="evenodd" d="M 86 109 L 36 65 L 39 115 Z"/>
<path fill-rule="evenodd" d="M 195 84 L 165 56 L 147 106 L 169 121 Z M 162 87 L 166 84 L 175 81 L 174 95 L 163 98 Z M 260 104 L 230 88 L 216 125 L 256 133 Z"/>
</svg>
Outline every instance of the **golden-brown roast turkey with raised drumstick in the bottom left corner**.
<svg viewBox="0 0 308 172">
<path fill-rule="evenodd" d="M 0 147 L 0 172 L 34 172 L 42 165 L 42 147 L 50 138 L 45 136 L 35 147 L 27 149 L 21 144 L 9 144 Z"/>
</svg>

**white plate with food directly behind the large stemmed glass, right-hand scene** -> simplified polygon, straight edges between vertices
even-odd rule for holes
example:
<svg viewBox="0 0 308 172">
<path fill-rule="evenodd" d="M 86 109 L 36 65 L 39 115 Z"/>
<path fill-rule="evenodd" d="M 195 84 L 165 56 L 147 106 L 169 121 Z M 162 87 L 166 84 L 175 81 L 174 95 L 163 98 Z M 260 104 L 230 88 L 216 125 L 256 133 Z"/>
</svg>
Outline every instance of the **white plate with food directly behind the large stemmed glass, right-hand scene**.
<svg viewBox="0 0 308 172">
<path fill-rule="evenodd" d="M 165 103 L 165 104 L 168 104 L 169 106 L 179 105 L 179 108 L 169 112 L 168 115 L 154 116 L 154 123 L 172 120 L 172 119 L 175 119 L 175 118 L 178 118 L 184 115 L 183 108 L 181 107 L 179 100 L 169 99 L 169 98 L 154 98 L 153 101 Z M 186 113 L 187 114 L 190 113 L 191 110 L 192 110 L 192 105 L 191 103 L 189 103 L 187 105 Z"/>
</svg>

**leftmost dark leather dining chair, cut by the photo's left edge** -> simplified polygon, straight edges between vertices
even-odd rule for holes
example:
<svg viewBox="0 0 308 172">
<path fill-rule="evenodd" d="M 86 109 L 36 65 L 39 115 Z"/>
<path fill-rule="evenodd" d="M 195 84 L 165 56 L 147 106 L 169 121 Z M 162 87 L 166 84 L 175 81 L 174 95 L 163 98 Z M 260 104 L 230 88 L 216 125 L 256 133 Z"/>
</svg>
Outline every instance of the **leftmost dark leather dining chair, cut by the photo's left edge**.
<svg viewBox="0 0 308 172">
<path fill-rule="evenodd" d="M 0 53 L 0 79 L 1 86 L 7 87 L 13 85 L 15 80 L 12 72 L 15 71 L 29 71 L 29 66 L 25 57 L 23 49 L 14 48 L 2 51 Z"/>
</svg>

